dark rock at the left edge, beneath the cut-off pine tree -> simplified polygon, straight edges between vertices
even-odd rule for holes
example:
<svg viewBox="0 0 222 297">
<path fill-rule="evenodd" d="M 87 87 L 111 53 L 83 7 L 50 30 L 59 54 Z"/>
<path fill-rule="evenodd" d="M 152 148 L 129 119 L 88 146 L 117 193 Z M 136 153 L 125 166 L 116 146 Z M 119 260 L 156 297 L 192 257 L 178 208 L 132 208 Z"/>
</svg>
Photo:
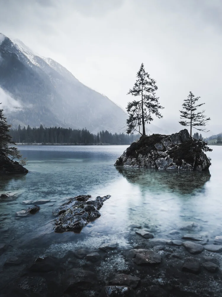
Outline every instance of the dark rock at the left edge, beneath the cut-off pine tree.
<svg viewBox="0 0 222 297">
<path fill-rule="evenodd" d="M 0 174 L 28 173 L 28 169 L 19 162 L 12 161 L 4 155 L 0 155 Z"/>
</svg>

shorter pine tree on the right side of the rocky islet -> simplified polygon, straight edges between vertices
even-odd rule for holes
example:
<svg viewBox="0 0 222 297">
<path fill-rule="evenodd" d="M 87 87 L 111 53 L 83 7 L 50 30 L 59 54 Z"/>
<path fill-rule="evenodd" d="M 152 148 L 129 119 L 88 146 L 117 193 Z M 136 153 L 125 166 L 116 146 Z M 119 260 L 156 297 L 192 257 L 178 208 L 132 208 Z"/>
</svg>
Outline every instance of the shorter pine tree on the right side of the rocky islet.
<svg viewBox="0 0 222 297">
<path fill-rule="evenodd" d="M 192 127 L 197 129 L 198 131 L 208 132 L 206 129 L 200 129 L 196 127 L 204 127 L 207 124 L 207 121 L 210 120 L 210 118 L 206 119 L 206 116 L 204 115 L 205 110 L 197 111 L 197 109 L 204 105 L 205 103 L 197 104 L 197 101 L 200 99 L 200 97 L 194 98 L 194 94 L 192 92 L 189 93 L 187 99 L 184 99 L 184 103 L 182 105 L 184 110 L 180 110 L 180 118 L 181 119 L 187 119 L 187 121 L 179 121 L 179 123 L 182 126 L 190 126 L 190 137 L 192 137 Z"/>
</svg>

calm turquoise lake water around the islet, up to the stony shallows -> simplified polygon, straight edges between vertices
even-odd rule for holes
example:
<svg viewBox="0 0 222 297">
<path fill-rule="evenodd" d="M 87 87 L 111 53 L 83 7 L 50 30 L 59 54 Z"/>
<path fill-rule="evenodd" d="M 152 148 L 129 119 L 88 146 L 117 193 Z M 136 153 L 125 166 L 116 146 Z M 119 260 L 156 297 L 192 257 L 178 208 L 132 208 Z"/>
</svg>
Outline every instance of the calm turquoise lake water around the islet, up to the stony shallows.
<svg viewBox="0 0 222 297">
<path fill-rule="evenodd" d="M 0 257 L 30 253 L 63 255 L 76 247 L 95 247 L 116 240 L 128 247 L 128 226 L 157 228 L 167 237 L 183 222 L 194 221 L 210 237 L 222 235 L 222 146 L 213 146 L 210 174 L 117 169 L 113 166 L 127 146 L 22 146 L 28 158 L 25 176 L 0 177 L 0 193 L 18 195 L 0 204 L 1 242 L 9 244 Z M 100 209 L 101 217 L 80 234 L 52 231 L 52 210 L 65 198 L 80 194 L 112 195 Z M 16 218 L 22 200 L 50 199 L 30 217 Z M 27 206 L 28 207 L 28 206 Z"/>
</svg>

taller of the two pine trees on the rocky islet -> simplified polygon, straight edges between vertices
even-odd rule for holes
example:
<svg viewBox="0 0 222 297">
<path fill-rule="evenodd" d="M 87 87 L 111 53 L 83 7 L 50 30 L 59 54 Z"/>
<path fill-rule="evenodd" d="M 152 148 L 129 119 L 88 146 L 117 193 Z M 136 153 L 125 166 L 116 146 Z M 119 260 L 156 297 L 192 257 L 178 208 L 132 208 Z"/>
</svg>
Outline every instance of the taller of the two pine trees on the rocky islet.
<svg viewBox="0 0 222 297">
<path fill-rule="evenodd" d="M 146 135 L 145 124 L 150 124 L 153 121 L 152 115 L 154 114 L 159 119 L 163 116 L 160 114 L 159 109 L 163 107 L 159 104 L 155 92 L 157 91 L 156 81 L 150 78 L 149 74 L 145 72 L 144 64 L 142 63 L 139 71 L 137 72 L 137 80 L 133 86 L 133 89 L 129 90 L 127 94 L 132 94 L 133 96 L 141 97 L 140 100 L 133 100 L 127 105 L 127 112 L 129 113 L 129 118 L 126 123 L 128 126 L 127 134 L 137 131 L 141 135 Z M 142 125 L 143 132 L 140 132 L 140 126 Z"/>
</svg>

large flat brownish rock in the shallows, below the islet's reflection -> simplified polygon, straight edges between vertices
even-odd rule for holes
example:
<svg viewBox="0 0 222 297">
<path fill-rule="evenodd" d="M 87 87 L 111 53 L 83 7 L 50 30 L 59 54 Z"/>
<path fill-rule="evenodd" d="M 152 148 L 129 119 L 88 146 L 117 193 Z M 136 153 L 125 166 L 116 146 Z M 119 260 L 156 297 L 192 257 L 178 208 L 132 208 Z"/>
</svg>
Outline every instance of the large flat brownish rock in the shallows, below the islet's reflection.
<svg viewBox="0 0 222 297">
<path fill-rule="evenodd" d="M 158 264 L 161 262 L 161 255 L 149 249 L 131 249 L 130 257 L 134 259 L 137 265 Z"/>
</svg>

